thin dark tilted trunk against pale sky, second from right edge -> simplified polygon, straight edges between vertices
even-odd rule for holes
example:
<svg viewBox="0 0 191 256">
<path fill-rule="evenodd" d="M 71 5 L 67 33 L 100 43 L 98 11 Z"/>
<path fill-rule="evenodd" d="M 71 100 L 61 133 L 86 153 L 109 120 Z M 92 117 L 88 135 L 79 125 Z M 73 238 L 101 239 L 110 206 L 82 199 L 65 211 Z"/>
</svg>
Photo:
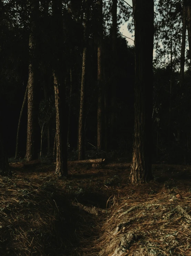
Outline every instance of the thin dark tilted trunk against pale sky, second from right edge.
<svg viewBox="0 0 191 256">
<path fill-rule="evenodd" d="M 186 44 L 186 30 L 187 30 L 187 15 L 185 0 L 183 1 L 182 12 L 182 44 L 181 44 L 181 57 L 180 57 L 180 87 L 184 84 L 184 65 L 185 65 L 185 44 Z"/>
</svg>

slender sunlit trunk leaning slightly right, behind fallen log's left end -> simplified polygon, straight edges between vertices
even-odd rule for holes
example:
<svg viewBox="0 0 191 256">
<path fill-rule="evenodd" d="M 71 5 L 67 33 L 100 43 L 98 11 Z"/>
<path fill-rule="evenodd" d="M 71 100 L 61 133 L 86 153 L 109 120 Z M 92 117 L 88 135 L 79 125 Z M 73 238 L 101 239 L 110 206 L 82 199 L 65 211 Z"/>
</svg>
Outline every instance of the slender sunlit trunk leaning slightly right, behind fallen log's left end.
<svg viewBox="0 0 191 256">
<path fill-rule="evenodd" d="M 80 113 L 79 113 L 79 125 L 78 125 L 78 160 L 85 158 L 85 94 L 86 94 L 86 82 L 87 82 L 87 46 L 88 46 L 88 22 L 89 22 L 89 2 L 85 0 L 86 12 L 84 17 L 84 46 L 83 46 L 83 58 L 82 58 L 82 79 L 81 79 L 81 91 L 80 91 Z"/>
</svg>

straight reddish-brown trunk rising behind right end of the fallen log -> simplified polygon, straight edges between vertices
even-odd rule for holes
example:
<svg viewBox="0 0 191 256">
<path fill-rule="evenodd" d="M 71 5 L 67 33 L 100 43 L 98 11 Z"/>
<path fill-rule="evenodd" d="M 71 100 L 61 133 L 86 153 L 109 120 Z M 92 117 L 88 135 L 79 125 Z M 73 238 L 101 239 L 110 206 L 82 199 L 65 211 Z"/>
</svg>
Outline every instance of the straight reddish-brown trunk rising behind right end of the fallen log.
<svg viewBox="0 0 191 256">
<path fill-rule="evenodd" d="M 97 147 L 102 149 L 103 144 L 103 14 L 102 0 L 98 2 L 98 113 L 97 113 Z"/>
</svg>

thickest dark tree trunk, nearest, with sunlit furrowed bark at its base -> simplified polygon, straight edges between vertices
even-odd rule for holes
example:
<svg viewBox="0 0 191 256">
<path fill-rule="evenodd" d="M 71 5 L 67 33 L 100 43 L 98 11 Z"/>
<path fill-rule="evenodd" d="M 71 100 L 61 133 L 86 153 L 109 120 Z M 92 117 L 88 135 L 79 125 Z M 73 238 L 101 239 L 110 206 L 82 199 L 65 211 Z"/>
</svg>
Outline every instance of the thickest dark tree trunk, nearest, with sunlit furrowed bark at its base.
<svg viewBox="0 0 191 256">
<path fill-rule="evenodd" d="M 133 0 L 135 25 L 135 123 L 131 183 L 152 178 L 154 0 Z M 149 34 L 147 33 L 149 31 Z M 145 37 L 145 34 L 148 36 Z"/>
</svg>

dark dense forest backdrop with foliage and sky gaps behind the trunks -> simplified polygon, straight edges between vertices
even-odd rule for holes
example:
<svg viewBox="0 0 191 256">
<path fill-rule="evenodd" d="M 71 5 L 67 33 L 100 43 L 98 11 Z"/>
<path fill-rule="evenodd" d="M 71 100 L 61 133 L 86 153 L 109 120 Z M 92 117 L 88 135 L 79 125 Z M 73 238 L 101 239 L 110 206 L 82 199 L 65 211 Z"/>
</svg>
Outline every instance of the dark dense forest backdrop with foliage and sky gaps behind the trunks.
<svg viewBox="0 0 191 256">
<path fill-rule="evenodd" d="M 29 65 L 32 63 L 35 73 L 34 151 L 38 157 L 47 156 L 47 153 L 52 155 L 56 133 L 52 68 L 58 64 L 55 64 L 55 60 L 61 54 L 62 63 L 58 65 L 62 65 L 59 72 L 63 74 L 63 93 L 66 94 L 63 126 L 67 133 L 68 157 L 79 157 L 80 91 L 84 72 L 82 59 L 84 47 L 87 47 L 82 124 L 82 144 L 86 148 L 86 157 L 103 156 L 103 152 L 107 152 L 113 157 L 128 156 L 131 160 L 134 47 L 128 45 L 119 29 L 122 23 L 127 22 L 129 31 L 133 32 L 132 7 L 123 0 L 103 1 L 100 16 L 100 1 L 56 2 L 57 6 L 51 1 L 1 1 L 1 134 L 4 151 L 9 158 L 15 155 L 19 115 L 29 83 Z M 190 16 L 185 5 L 182 0 L 155 2 L 154 91 L 150 135 L 153 162 L 191 162 Z M 61 27 L 58 26 L 60 17 Z M 186 50 L 182 46 L 183 41 Z M 100 64 L 101 86 L 98 83 L 100 45 L 103 56 Z M 184 76 L 181 74 L 182 63 Z M 98 145 L 99 97 L 102 142 Z M 26 156 L 29 132 L 27 108 L 26 99 L 16 153 L 16 157 L 22 158 Z"/>
</svg>

